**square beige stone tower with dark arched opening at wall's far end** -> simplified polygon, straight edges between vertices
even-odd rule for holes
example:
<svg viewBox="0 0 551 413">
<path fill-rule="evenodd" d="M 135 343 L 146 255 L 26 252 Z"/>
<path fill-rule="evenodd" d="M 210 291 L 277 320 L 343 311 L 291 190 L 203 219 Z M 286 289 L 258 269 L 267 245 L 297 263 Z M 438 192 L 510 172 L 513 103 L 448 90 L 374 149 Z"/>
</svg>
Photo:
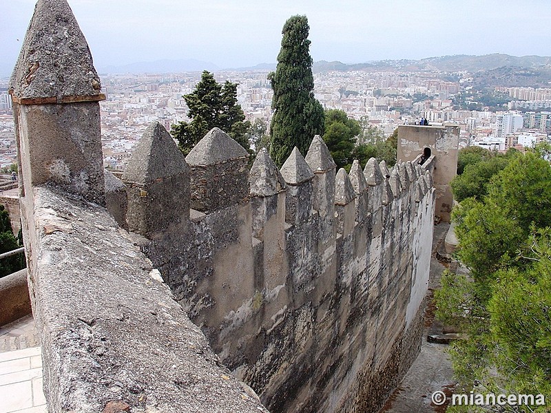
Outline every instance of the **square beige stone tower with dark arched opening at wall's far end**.
<svg viewBox="0 0 551 413">
<path fill-rule="evenodd" d="M 398 127 L 398 162 L 414 164 L 424 154 L 425 162 L 431 162 L 436 188 L 435 215 L 450 222 L 453 194 L 450 181 L 457 174 L 457 151 L 459 150 L 459 125 Z"/>
</svg>

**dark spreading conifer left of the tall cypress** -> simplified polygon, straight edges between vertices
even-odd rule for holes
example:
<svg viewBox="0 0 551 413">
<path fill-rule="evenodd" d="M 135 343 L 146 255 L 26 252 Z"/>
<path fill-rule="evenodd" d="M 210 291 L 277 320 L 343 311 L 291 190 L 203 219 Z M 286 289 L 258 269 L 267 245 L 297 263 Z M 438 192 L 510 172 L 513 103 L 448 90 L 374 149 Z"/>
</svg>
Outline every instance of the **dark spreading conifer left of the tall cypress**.
<svg viewBox="0 0 551 413">
<path fill-rule="evenodd" d="M 191 122 L 172 125 L 170 133 L 179 142 L 184 155 L 214 127 L 219 127 L 235 139 L 249 153 L 251 152 L 247 131 L 251 123 L 245 121 L 245 114 L 237 103 L 237 83 L 216 82 L 213 74 L 202 72 L 201 80 L 194 92 L 183 96 Z"/>
</svg>

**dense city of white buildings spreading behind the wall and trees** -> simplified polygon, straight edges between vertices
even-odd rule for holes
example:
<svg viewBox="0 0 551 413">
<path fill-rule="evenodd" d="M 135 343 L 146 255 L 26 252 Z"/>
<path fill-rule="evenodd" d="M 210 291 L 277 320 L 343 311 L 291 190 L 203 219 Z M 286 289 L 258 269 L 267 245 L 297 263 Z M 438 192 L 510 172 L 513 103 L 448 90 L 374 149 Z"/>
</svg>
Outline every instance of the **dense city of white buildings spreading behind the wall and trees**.
<svg viewBox="0 0 551 413">
<path fill-rule="evenodd" d="M 268 71 L 217 72 L 216 80 L 238 83 L 238 101 L 248 120 L 271 120 Z M 148 123 L 167 129 L 187 118 L 183 95 L 193 91 L 200 72 L 180 74 L 101 74 L 107 100 L 101 103 L 106 167 L 124 169 Z M 468 100 L 470 74 L 457 72 L 320 72 L 314 74 L 315 97 L 325 109 L 342 109 L 366 127 L 389 136 L 397 125 L 426 118 L 431 125 L 458 123 L 461 146 L 492 150 L 521 149 L 551 133 L 551 88 L 494 87 L 498 105 Z M 0 80 L 0 167 L 17 160 L 8 79 Z M 472 98 L 472 97 L 471 97 Z"/>
</svg>

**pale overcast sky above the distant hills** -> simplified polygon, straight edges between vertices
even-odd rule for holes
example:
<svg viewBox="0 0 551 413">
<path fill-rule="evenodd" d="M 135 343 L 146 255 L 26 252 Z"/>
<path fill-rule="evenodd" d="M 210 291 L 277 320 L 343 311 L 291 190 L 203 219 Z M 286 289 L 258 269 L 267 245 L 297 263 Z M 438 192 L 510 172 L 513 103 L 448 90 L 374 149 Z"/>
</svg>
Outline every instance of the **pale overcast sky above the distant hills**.
<svg viewBox="0 0 551 413">
<path fill-rule="evenodd" d="M 35 0 L 0 0 L 0 76 L 12 71 Z M 551 56 L 549 0 L 69 0 L 96 67 L 197 59 L 275 63 L 281 29 L 306 14 L 314 61 L 447 54 Z"/>
</svg>

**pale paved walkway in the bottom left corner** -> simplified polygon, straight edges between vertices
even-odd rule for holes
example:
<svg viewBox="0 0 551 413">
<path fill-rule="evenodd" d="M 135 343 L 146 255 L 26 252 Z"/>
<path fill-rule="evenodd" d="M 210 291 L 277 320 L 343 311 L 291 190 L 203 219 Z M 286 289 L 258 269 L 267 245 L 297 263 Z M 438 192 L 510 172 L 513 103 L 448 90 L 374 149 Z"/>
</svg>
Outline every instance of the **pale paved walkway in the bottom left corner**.
<svg viewBox="0 0 551 413">
<path fill-rule="evenodd" d="M 0 413 L 48 413 L 32 316 L 0 328 Z"/>
</svg>

